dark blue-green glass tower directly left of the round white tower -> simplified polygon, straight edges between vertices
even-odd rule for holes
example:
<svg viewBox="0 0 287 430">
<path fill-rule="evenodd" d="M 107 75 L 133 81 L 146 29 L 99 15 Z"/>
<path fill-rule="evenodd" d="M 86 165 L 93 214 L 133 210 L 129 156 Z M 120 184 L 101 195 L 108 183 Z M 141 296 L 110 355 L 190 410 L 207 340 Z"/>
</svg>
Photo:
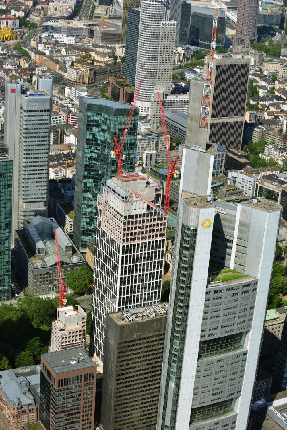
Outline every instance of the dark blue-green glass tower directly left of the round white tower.
<svg viewBox="0 0 287 430">
<path fill-rule="evenodd" d="M 127 14 L 126 54 L 123 76 L 129 78 L 130 85 L 133 86 L 136 83 L 136 59 L 138 56 L 140 14 L 141 10 L 137 7 L 129 9 Z"/>
</svg>

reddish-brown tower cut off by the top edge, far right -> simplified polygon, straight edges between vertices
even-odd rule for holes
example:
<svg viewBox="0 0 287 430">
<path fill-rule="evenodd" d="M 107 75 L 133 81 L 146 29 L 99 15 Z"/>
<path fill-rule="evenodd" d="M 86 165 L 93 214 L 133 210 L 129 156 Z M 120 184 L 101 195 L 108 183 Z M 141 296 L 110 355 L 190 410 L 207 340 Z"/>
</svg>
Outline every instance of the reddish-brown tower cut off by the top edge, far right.
<svg viewBox="0 0 287 430">
<path fill-rule="evenodd" d="M 250 48 L 257 42 L 259 0 L 239 0 L 236 32 L 233 37 L 234 46 Z"/>
</svg>

